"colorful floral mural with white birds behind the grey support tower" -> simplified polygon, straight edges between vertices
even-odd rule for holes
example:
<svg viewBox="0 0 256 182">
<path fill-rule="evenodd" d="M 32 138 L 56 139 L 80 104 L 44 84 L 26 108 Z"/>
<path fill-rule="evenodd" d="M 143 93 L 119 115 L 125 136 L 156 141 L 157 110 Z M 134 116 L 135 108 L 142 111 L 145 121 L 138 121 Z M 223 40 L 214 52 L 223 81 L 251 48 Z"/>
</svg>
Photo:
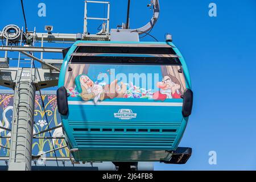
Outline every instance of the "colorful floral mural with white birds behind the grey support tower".
<svg viewBox="0 0 256 182">
<path fill-rule="evenodd" d="M 10 93 L 0 93 L 0 126 L 7 127 L 11 129 L 11 118 L 13 115 L 13 94 Z M 60 114 L 57 111 L 57 101 L 55 94 L 42 94 L 43 101 L 40 94 L 36 94 L 35 97 L 35 113 L 34 113 L 34 133 L 39 133 L 40 131 L 46 130 L 48 128 L 55 127 L 61 124 Z M 44 102 L 45 111 L 42 106 Z M 47 122 L 48 121 L 48 122 Z M 9 131 L 0 129 L 0 144 L 4 147 L 10 147 L 10 136 Z M 64 137 L 62 133 L 62 128 L 58 128 L 51 131 L 52 137 Z M 49 132 L 36 135 L 37 138 L 33 139 L 32 144 L 32 154 L 37 155 L 42 151 L 48 151 L 54 148 L 59 148 L 65 146 L 64 139 L 49 139 Z M 9 156 L 9 150 L 0 147 L 0 156 Z M 68 148 L 63 148 L 56 151 L 56 156 L 66 157 L 68 156 Z M 47 156 L 55 156 L 54 152 L 48 153 Z"/>
</svg>

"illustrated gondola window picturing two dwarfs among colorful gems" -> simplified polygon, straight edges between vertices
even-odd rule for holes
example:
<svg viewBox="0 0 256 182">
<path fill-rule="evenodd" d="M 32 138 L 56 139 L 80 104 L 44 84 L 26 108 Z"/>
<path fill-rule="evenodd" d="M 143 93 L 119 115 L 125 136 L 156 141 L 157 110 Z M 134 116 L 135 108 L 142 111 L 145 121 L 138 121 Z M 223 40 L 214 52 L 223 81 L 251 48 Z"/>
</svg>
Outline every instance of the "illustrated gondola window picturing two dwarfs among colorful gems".
<svg viewBox="0 0 256 182">
<path fill-rule="evenodd" d="M 176 65 L 69 64 L 65 88 L 71 98 L 168 100 L 180 98 L 185 78 Z"/>
</svg>

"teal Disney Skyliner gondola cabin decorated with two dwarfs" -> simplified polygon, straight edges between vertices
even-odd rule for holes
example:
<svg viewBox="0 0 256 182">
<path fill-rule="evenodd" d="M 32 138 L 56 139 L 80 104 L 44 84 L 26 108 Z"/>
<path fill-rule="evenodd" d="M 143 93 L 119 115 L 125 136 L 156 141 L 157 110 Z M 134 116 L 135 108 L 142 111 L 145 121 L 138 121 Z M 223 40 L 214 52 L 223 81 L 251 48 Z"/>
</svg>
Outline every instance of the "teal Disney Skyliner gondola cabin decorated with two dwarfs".
<svg viewBox="0 0 256 182">
<path fill-rule="evenodd" d="M 65 52 L 57 104 L 77 162 L 185 163 L 192 100 L 171 42 L 77 41 Z"/>
</svg>

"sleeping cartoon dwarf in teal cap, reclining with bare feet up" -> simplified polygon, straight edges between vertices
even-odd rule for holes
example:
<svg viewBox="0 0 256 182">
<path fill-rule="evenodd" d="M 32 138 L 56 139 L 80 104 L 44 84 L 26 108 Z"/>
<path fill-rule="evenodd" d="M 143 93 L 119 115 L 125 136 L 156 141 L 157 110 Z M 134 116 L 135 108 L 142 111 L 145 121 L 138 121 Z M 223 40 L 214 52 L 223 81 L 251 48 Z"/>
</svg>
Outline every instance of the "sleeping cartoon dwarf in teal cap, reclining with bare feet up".
<svg viewBox="0 0 256 182">
<path fill-rule="evenodd" d="M 87 75 L 79 75 L 75 79 L 77 91 L 84 101 L 92 100 L 95 104 L 106 98 L 122 98 L 127 90 L 126 85 L 121 82 L 121 87 L 114 80 L 110 85 L 95 84 Z"/>
</svg>

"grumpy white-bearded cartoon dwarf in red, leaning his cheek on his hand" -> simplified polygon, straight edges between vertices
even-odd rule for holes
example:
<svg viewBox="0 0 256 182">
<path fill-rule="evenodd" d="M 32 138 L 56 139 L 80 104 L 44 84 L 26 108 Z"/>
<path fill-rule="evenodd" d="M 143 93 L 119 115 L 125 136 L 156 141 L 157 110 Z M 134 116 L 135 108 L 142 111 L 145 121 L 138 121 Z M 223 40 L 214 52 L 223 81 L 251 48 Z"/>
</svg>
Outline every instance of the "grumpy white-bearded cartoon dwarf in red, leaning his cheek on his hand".
<svg viewBox="0 0 256 182">
<path fill-rule="evenodd" d="M 158 82 L 156 86 L 160 91 L 153 94 L 155 100 L 164 101 L 166 98 L 181 98 L 180 96 L 183 94 L 179 80 L 172 75 L 164 76 L 162 82 Z"/>
</svg>

